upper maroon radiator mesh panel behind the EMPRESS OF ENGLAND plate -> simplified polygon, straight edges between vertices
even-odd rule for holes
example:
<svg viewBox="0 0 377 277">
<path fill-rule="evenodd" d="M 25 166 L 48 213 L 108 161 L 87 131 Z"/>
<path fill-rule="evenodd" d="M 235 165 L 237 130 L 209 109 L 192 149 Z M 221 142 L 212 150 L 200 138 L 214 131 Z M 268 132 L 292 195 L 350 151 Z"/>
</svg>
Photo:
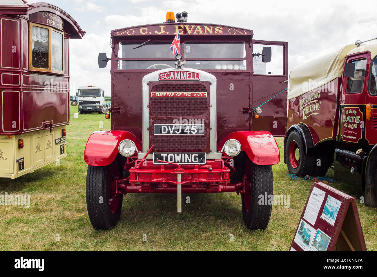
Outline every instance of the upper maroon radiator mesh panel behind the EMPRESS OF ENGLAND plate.
<svg viewBox="0 0 377 277">
<path fill-rule="evenodd" d="M 151 92 L 207 92 L 202 84 L 158 84 Z M 150 110 L 156 116 L 204 115 L 208 109 L 207 97 L 151 97 Z"/>
</svg>

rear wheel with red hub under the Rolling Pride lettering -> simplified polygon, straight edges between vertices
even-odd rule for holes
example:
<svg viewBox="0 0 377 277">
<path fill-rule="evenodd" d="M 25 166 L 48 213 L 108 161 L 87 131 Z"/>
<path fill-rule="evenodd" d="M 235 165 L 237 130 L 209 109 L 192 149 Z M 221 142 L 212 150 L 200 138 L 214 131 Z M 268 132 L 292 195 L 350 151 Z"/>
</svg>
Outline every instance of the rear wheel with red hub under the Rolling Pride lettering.
<svg viewBox="0 0 377 277">
<path fill-rule="evenodd" d="M 316 159 L 312 155 L 305 154 L 301 136 L 296 130 L 288 135 L 284 152 L 290 173 L 302 177 L 312 175 Z"/>
</svg>

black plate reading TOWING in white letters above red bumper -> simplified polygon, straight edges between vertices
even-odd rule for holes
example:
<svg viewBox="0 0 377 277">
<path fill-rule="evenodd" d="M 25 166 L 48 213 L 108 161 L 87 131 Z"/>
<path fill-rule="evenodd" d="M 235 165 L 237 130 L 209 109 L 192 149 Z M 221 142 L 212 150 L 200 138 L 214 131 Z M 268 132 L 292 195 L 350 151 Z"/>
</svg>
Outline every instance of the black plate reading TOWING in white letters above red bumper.
<svg viewBox="0 0 377 277">
<path fill-rule="evenodd" d="M 205 152 L 153 153 L 153 164 L 167 164 L 160 161 L 174 162 L 175 164 L 205 164 L 205 155 Z"/>
</svg>

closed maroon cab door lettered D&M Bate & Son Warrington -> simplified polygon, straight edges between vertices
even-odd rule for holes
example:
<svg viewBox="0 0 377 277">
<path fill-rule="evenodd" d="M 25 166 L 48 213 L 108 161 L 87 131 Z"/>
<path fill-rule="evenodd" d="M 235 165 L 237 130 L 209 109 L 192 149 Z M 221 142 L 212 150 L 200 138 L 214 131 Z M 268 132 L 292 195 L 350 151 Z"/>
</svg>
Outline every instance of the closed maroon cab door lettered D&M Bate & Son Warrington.
<svg viewBox="0 0 377 277">
<path fill-rule="evenodd" d="M 370 54 L 346 57 L 346 63 L 355 64 L 354 77 L 344 77 L 339 99 L 339 141 L 362 146 L 365 140 L 365 94 L 368 90 L 368 66 Z"/>
</svg>

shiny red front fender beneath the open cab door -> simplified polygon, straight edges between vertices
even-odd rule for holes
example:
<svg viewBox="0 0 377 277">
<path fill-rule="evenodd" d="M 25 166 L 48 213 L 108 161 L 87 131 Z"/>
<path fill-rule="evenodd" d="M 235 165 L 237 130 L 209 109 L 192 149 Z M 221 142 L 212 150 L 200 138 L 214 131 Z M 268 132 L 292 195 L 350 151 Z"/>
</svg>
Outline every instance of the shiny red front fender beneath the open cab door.
<svg viewBox="0 0 377 277">
<path fill-rule="evenodd" d="M 217 146 L 221 151 L 228 139 L 236 139 L 241 143 L 241 151 L 245 151 L 249 159 L 257 165 L 278 164 L 279 147 L 273 135 L 267 131 L 242 131 L 227 135 Z M 225 152 L 224 152 L 224 155 Z"/>
</svg>

